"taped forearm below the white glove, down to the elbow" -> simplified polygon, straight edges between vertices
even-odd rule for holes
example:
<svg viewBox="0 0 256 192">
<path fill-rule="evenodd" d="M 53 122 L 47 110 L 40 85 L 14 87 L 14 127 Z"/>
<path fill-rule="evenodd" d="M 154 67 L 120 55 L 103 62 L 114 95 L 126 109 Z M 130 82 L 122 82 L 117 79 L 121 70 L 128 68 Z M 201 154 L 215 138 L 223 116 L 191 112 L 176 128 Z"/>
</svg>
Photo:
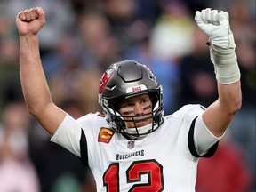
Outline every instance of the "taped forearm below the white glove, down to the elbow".
<svg viewBox="0 0 256 192">
<path fill-rule="evenodd" d="M 227 114 L 230 116 L 236 114 L 242 102 L 240 70 L 237 63 L 235 46 L 235 43 L 233 43 L 233 47 L 228 48 L 221 48 L 213 44 L 210 47 L 212 63 L 214 64 L 218 81 L 218 104 L 221 110 L 227 111 Z"/>
</svg>

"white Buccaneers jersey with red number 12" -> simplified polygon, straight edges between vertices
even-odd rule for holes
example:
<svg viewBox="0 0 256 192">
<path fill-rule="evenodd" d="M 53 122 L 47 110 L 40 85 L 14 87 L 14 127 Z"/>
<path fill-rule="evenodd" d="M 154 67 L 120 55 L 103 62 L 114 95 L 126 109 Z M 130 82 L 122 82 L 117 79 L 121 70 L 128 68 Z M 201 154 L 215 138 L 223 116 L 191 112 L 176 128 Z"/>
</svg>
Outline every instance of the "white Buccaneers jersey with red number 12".
<svg viewBox="0 0 256 192">
<path fill-rule="evenodd" d="M 164 124 L 140 140 L 127 140 L 113 132 L 99 113 L 78 120 L 67 115 L 51 140 L 90 166 L 97 191 L 190 192 L 195 191 L 200 156 L 196 155 L 200 148 L 197 139 L 193 141 L 194 124 L 202 112 L 199 105 L 180 108 L 165 116 Z M 204 148 L 209 149 L 218 141 L 210 132 L 201 134 L 204 136 L 208 140 L 199 142 Z M 210 149 L 212 154 L 214 149 Z"/>
</svg>

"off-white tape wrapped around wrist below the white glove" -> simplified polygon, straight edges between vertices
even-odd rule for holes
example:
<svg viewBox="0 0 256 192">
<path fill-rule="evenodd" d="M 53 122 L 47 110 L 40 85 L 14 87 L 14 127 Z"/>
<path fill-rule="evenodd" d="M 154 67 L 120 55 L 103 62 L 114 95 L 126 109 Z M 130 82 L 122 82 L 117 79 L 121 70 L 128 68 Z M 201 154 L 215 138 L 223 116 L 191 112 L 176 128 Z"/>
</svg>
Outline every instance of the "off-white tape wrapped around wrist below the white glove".
<svg viewBox="0 0 256 192">
<path fill-rule="evenodd" d="M 216 79 L 220 84 L 232 84 L 240 79 L 233 34 L 229 34 L 228 48 L 210 44 L 210 55 Z"/>
</svg>

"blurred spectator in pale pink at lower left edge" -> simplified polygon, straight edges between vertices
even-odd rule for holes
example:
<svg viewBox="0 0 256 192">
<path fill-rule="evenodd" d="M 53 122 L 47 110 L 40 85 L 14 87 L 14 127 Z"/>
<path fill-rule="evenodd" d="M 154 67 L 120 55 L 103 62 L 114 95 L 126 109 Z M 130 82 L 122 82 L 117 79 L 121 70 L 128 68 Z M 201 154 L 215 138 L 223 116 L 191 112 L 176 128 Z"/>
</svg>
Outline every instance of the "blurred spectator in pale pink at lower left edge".
<svg viewBox="0 0 256 192">
<path fill-rule="evenodd" d="M 28 156 L 30 116 L 21 103 L 4 108 L 0 126 L 0 192 L 39 192 L 39 180 Z"/>
</svg>

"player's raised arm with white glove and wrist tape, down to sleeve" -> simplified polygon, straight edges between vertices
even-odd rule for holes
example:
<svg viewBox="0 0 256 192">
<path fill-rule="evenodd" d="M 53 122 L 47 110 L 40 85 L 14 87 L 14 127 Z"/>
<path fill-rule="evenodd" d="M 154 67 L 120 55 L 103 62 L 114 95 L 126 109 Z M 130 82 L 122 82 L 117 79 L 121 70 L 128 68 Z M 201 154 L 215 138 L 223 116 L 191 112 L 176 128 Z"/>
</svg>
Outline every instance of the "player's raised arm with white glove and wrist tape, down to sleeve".
<svg viewBox="0 0 256 192">
<path fill-rule="evenodd" d="M 210 54 L 218 81 L 219 98 L 204 111 L 208 129 L 220 137 L 241 108 L 240 71 L 236 61 L 236 44 L 227 12 L 205 9 L 196 12 L 196 23 L 210 36 Z"/>
</svg>

